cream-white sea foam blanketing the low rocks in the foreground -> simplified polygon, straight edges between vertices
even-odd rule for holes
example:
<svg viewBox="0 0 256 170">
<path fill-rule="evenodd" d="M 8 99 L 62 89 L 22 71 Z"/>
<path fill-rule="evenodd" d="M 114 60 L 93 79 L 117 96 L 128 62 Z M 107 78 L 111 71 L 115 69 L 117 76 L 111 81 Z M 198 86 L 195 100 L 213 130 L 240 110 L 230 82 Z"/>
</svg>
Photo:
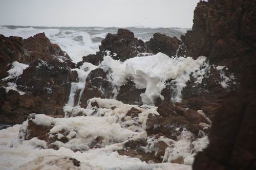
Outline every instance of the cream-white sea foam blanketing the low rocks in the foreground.
<svg viewBox="0 0 256 170">
<path fill-rule="evenodd" d="M 37 125 L 52 126 L 51 134 L 58 134 L 62 130 L 70 131 L 67 136 L 70 140 L 67 143 L 60 141 L 54 144 L 58 145 L 59 150 L 47 148 L 46 141 L 32 138 L 30 140 L 19 139 L 19 130 L 25 131 L 28 128 L 28 121 L 23 125 L 15 125 L 11 128 L 0 131 L 0 166 L 1 169 L 157 169 L 157 170 L 190 170 L 196 152 L 206 147 L 208 139 L 201 138 L 191 143 L 191 134 L 184 131 L 179 137 L 179 141 L 167 138 L 159 138 L 164 142 L 171 141 L 173 144 L 166 149 L 164 161 L 170 162 L 175 158 L 184 158 L 184 163 L 158 163 L 147 164 L 138 158 L 122 156 L 118 150 L 123 149 L 123 144 L 127 139 L 146 138 L 143 124 L 149 113 L 158 114 L 154 106 L 127 105 L 122 102 L 111 99 L 91 99 L 87 110 L 94 110 L 91 105 L 97 102 L 97 113 L 86 116 L 69 118 L 52 118 L 46 115 L 34 115 L 33 121 Z M 113 109 L 113 107 L 115 107 Z M 125 117 L 126 112 L 135 107 L 142 113 L 137 119 L 128 119 L 124 122 L 121 117 Z M 112 108 L 112 109 L 111 109 Z M 82 108 L 81 108 L 82 109 Z M 94 110 L 95 111 L 95 110 Z M 101 113 L 104 113 L 103 115 Z M 130 122 L 132 121 L 132 122 Z M 130 126 L 125 126 L 125 125 Z M 135 124 L 135 125 L 134 125 Z M 132 126 L 131 126 L 132 125 Z M 138 128 L 135 128 L 135 127 Z M 140 128 L 139 128 L 140 127 Z M 84 148 L 97 137 L 103 138 L 101 147 L 93 148 L 83 152 L 73 152 L 74 148 Z M 150 140 L 148 139 L 148 142 Z M 148 151 L 154 151 L 154 141 Z M 191 154 L 190 145 L 193 144 L 195 153 Z M 73 165 L 69 158 L 75 158 L 81 162 L 79 167 Z"/>
</svg>

